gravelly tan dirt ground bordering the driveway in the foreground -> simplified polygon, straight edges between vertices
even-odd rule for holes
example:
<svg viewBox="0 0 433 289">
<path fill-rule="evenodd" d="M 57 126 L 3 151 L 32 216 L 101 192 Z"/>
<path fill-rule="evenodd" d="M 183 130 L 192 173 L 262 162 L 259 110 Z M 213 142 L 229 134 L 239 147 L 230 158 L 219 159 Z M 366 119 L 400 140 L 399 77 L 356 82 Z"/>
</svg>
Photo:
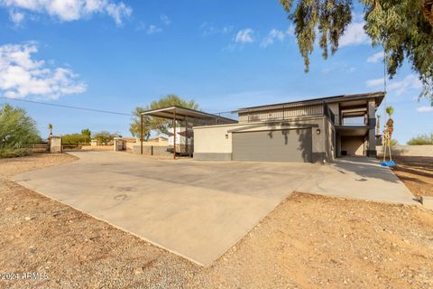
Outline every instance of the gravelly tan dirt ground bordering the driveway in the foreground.
<svg viewBox="0 0 433 289">
<path fill-rule="evenodd" d="M 6 179 L 73 160 L 0 160 L 0 288 L 433 287 L 428 210 L 295 193 L 204 268 Z"/>
</svg>

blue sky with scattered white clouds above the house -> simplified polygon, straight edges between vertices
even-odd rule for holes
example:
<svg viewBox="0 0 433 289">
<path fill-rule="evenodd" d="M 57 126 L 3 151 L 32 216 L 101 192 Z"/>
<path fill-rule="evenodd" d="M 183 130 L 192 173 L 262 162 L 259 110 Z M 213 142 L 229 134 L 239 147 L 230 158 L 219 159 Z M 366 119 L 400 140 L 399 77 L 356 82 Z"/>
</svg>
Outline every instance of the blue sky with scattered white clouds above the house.
<svg viewBox="0 0 433 289">
<path fill-rule="evenodd" d="M 0 0 L 0 96 L 128 114 L 174 93 L 217 113 L 381 91 L 382 48 L 356 7 L 336 54 L 324 60 L 316 45 L 305 73 L 278 0 Z M 387 90 L 400 144 L 432 131 L 433 108 L 417 100 L 408 63 Z M 25 108 L 42 136 L 49 123 L 57 135 L 130 135 L 129 116 L 5 102 Z"/>
</svg>

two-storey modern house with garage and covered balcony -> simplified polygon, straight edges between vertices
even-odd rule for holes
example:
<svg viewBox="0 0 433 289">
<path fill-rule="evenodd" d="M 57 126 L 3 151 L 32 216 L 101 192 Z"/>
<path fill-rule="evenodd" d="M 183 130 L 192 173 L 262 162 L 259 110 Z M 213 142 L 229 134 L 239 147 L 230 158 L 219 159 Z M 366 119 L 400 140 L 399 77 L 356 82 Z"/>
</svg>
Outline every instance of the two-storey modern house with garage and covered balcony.
<svg viewBox="0 0 433 289">
<path fill-rule="evenodd" d="M 245 107 L 238 123 L 195 126 L 194 159 L 333 162 L 376 155 L 376 110 L 383 92 Z"/>
</svg>

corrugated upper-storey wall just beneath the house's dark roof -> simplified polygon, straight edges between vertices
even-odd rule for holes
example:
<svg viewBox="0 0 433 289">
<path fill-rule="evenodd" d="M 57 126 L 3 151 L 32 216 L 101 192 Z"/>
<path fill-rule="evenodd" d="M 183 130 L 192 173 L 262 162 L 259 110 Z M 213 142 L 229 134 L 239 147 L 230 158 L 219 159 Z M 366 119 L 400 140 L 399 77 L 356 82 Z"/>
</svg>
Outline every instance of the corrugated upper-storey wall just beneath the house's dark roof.
<svg viewBox="0 0 433 289">
<path fill-rule="evenodd" d="M 306 107 L 284 107 L 278 109 L 257 111 L 257 112 L 241 112 L 239 113 L 239 123 L 266 121 L 266 120 L 281 120 L 290 117 L 310 117 L 323 115 L 323 105 L 312 105 Z"/>
</svg>

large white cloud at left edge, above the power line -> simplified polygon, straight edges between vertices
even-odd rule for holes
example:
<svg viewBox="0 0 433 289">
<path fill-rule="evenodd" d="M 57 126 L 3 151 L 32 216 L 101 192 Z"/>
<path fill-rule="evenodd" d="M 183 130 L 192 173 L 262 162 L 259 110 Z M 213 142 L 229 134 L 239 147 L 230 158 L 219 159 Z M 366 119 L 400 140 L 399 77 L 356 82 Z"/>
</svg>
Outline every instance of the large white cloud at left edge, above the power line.
<svg viewBox="0 0 433 289">
<path fill-rule="evenodd" d="M 52 68 L 35 61 L 35 44 L 0 46 L 0 94 L 6 98 L 36 96 L 57 99 L 62 95 L 83 93 L 87 85 L 66 68 Z"/>
</svg>

